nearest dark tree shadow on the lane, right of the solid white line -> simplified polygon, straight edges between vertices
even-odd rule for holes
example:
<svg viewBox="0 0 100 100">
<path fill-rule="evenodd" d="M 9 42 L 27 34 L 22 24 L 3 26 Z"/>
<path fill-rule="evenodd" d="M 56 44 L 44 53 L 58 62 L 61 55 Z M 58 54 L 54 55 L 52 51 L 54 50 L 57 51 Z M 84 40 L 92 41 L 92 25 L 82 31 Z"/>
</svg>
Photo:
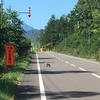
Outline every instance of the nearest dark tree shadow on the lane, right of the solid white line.
<svg viewBox="0 0 100 100">
<path fill-rule="evenodd" d="M 48 96 L 50 100 L 62 100 L 65 98 L 84 98 L 85 100 L 85 97 L 93 97 L 97 95 L 100 95 L 100 93 L 87 91 L 46 92 L 46 96 Z"/>
</svg>

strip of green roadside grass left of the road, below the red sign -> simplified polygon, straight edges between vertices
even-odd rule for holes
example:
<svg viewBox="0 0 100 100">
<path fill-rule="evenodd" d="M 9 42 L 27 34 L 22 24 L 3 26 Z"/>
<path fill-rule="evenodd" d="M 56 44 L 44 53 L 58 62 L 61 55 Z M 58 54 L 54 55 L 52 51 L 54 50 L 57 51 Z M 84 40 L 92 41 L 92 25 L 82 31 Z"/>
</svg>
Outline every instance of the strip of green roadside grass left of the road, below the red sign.
<svg viewBox="0 0 100 100">
<path fill-rule="evenodd" d="M 14 100 L 21 76 L 26 70 L 32 53 L 15 61 L 15 65 L 2 72 L 0 76 L 0 100 Z"/>
</svg>

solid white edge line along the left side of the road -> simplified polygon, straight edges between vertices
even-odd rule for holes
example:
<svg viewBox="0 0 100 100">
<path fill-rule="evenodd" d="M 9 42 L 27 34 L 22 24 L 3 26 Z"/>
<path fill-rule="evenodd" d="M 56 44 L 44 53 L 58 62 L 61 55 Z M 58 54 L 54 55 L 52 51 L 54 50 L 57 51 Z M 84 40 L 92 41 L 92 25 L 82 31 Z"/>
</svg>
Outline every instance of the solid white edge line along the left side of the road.
<svg viewBox="0 0 100 100">
<path fill-rule="evenodd" d="M 46 95 L 45 95 L 45 89 L 44 89 L 44 85 L 43 85 L 43 80 L 42 80 L 42 75 L 41 75 L 41 70 L 40 70 L 40 65 L 39 65 L 37 53 L 36 53 L 36 57 L 37 57 L 37 67 L 38 67 L 38 77 L 39 77 L 41 100 L 47 100 Z"/>
</svg>

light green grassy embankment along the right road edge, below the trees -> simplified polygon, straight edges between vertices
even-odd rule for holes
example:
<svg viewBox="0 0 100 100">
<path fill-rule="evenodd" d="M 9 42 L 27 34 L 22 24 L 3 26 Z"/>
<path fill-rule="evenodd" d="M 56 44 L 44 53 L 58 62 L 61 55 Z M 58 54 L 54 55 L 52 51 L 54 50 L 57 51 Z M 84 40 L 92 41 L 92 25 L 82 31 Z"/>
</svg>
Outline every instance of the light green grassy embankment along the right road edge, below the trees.
<svg viewBox="0 0 100 100">
<path fill-rule="evenodd" d="M 67 40 L 66 40 L 67 41 Z M 87 58 L 87 59 L 94 59 L 96 61 L 100 61 L 100 50 L 95 51 L 91 47 L 87 46 L 77 46 L 77 47 L 71 47 L 74 44 L 70 44 L 70 46 L 67 46 L 67 43 L 65 43 L 65 40 L 63 40 L 59 45 L 57 45 L 53 51 L 59 52 L 67 55 L 72 55 L 76 57 L 81 58 Z"/>
</svg>

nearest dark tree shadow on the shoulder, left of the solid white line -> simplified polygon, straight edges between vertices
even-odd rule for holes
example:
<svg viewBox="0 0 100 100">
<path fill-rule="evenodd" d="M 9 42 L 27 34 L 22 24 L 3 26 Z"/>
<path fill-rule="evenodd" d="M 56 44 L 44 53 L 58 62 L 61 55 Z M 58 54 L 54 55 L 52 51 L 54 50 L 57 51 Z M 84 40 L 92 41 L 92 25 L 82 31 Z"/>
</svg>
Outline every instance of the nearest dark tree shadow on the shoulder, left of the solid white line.
<svg viewBox="0 0 100 100">
<path fill-rule="evenodd" d="M 17 89 L 15 100 L 28 100 L 40 98 L 39 88 L 30 85 L 20 85 Z"/>
</svg>

